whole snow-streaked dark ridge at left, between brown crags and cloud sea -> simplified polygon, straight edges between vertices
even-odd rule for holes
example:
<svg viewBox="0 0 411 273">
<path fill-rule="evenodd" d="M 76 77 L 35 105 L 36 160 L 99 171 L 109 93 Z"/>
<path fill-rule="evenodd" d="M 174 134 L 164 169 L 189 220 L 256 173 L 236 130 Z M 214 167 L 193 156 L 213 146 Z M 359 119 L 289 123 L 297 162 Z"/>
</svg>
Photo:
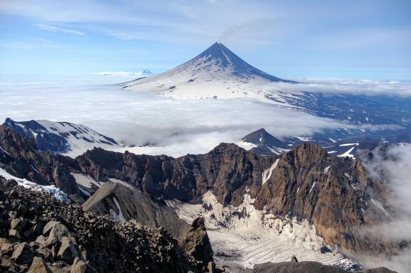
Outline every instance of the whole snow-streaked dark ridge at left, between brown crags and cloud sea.
<svg viewBox="0 0 411 273">
<path fill-rule="evenodd" d="M 99 134 L 87 126 L 70 122 L 14 121 L 6 118 L 3 125 L 22 136 L 33 139 L 41 151 L 81 154 L 95 146 L 120 146 L 113 138 Z"/>
</svg>

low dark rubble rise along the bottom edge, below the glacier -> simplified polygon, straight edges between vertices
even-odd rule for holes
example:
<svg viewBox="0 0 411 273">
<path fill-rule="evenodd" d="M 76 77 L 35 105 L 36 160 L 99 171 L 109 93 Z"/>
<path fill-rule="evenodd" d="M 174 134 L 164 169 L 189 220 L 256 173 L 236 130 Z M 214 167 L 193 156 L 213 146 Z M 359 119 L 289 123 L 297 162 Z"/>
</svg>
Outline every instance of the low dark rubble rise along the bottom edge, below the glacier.
<svg viewBox="0 0 411 273">
<path fill-rule="evenodd" d="M 324 265 L 319 262 L 280 262 L 255 264 L 253 269 L 247 268 L 246 273 L 347 273 L 352 271 L 340 267 Z M 356 271 L 359 273 L 396 273 L 385 267 Z"/>
</svg>

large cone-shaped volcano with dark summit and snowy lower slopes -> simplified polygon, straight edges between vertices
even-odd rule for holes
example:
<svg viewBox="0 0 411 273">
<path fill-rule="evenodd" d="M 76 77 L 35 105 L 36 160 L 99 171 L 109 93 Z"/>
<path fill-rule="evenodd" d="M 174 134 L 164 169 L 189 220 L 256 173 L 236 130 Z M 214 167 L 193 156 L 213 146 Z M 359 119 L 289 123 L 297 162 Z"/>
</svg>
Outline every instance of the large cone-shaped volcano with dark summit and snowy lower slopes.
<svg viewBox="0 0 411 273">
<path fill-rule="evenodd" d="M 124 88 L 172 98 L 264 98 L 259 87 L 289 80 L 267 74 L 242 60 L 221 43 L 215 43 L 195 58 L 150 78 L 123 83 Z"/>
</svg>

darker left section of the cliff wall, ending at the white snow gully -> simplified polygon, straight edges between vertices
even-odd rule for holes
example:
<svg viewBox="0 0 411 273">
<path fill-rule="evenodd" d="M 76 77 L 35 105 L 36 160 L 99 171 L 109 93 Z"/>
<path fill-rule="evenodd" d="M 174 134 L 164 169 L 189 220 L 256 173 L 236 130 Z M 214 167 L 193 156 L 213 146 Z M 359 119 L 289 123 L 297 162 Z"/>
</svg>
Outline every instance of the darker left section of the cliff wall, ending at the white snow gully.
<svg viewBox="0 0 411 273">
<path fill-rule="evenodd" d="M 208 154 L 179 158 L 96 148 L 77 157 L 70 167 L 98 181 L 105 182 L 107 177 L 127 181 L 145 193 L 166 199 L 198 200 L 213 188 L 219 202 L 238 205 L 246 186 L 258 190 L 263 171 L 274 159 L 221 143 Z"/>
</svg>

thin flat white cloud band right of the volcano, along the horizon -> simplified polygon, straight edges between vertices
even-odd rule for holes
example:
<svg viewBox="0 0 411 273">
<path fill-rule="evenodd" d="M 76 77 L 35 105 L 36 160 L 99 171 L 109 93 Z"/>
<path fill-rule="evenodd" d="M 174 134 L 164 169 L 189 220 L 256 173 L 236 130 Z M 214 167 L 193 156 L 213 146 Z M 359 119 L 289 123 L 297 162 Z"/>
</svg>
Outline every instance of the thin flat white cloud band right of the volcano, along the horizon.
<svg viewBox="0 0 411 273">
<path fill-rule="evenodd" d="M 261 88 L 267 91 L 307 91 L 322 93 L 350 93 L 357 95 L 411 96 L 411 81 L 341 79 L 341 78 L 293 78 L 299 83 L 273 82 Z"/>
</svg>

